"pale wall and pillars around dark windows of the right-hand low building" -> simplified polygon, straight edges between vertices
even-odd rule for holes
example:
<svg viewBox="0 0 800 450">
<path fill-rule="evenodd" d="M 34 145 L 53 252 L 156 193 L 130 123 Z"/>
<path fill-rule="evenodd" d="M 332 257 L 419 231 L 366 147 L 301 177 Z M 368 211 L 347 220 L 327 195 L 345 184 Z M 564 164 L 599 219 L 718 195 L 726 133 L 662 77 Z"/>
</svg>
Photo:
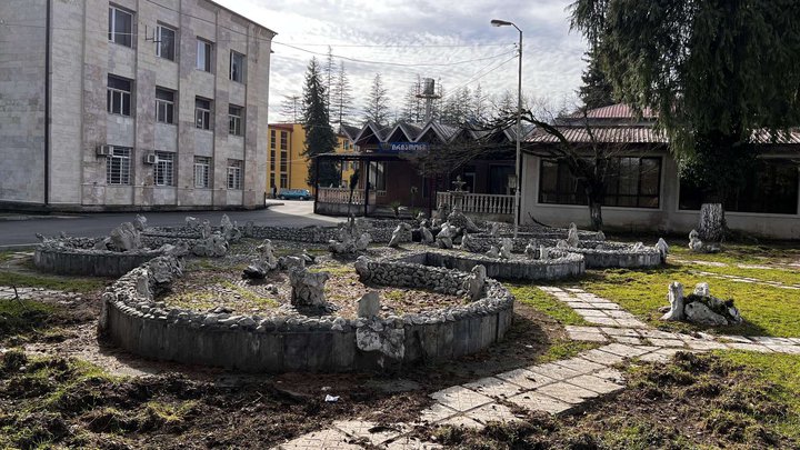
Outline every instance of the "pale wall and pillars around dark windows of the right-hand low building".
<svg viewBox="0 0 800 450">
<path fill-rule="evenodd" d="M 680 182 L 678 167 L 667 153 L 661 154 L 661 198 L 658 209 L 603 207 L 603 224 L 607 230 L 651 233 L 689 233 L 698 227 L 699 211 L 678 208 Z M 539 222 L 553 227 L 566 227 L 574 222 L 579 228 L 589 228 L 589 208 L 570 204 L 539 203 L 540 159 L 523 156 L 522 164 L 522 214 L 523 224 L 532 224 L 530 216 Z M 800 211 L 800 204 L 798 206 Z M 728 227 L 760 237 L 800 239 L 800 214 L 768 214 L 750 212 L 726 212 Z"/>
</svg>

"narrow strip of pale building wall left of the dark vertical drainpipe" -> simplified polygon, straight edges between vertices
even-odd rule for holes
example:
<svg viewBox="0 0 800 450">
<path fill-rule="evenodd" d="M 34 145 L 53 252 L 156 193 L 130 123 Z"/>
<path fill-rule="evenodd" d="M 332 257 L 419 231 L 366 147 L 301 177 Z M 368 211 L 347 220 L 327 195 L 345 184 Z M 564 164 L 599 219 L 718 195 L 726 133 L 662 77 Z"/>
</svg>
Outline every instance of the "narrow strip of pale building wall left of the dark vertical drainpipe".
<svg viewBox="0 0 800 450">
<path fill-rule="evenodd" d="M 0 2 L 0 200 L 44 201 L 46 0 Z"/>
</svg>

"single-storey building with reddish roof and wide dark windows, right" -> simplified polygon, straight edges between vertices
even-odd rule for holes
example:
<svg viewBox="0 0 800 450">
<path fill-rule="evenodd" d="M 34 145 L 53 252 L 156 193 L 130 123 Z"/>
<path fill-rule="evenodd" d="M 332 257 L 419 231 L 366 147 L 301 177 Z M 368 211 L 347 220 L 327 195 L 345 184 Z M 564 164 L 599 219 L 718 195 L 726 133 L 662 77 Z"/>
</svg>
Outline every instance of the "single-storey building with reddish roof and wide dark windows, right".
<svg viewBox="0 0 800 450">
<path fill-rule="evenodd" d="M 627 106 L 614 104 L 591 110 L 587 118 L 560 118 L 557 123 L 577 149 L 583 146 L 586 154 L 591 154 L 593 140 L 609 157 L 602 207 L 606 229 L 688 233 L 698 227 L 702 192 L 680 179 L 669 141 L 653 128 L 654 120 L 648 111 L 637 118 Z M 759 157 L 724 204 L 727 224 L 759 237 L 800 239 L 800 132 L 777 139 L 757 132 L 753 141 Z M 543 157 L 559 144 L 543 131 L 526 142 L 522 223 L 589 227 L 581 181 L 563 161 Z"/>
</svg>

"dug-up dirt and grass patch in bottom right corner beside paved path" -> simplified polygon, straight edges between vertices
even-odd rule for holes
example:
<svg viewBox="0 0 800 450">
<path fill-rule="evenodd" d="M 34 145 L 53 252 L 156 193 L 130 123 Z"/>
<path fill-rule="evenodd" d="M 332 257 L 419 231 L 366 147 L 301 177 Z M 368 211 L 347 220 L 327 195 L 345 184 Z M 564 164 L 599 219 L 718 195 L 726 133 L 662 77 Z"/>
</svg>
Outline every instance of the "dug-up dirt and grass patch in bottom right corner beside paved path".
<svg viewBox="0 0 800 450">
<path fill-rule="evenodd" d="M 561 419 L 529 414 L 523 423 L 481 431 L 419 429 L 446 447 L 532 449 L 798 448 L 782 430 L 797 412 L 781 387 L 717 356 L 678 353 L 668 363 L 629 371 L 629 388 Z M 783 392 L 786 394 L 786 392 Z M 791 414 L 794 414 L 792 418 Z"/>
</svg>

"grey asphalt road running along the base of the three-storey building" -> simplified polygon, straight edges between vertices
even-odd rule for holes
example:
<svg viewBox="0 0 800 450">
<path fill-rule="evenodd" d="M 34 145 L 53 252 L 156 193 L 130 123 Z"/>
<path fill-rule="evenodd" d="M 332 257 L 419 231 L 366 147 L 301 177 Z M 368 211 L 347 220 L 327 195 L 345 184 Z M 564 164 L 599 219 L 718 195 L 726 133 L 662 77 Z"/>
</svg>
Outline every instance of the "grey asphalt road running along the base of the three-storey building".
<svg viewBox="0 0 800 450">
<path fill-rule="evenodd" d="M 182 212 L 142 212 L 150 227 L 177 227 L 184 223 L 187 216 L 200 220 L 208 219 L 212 224 L 219 224 L 222 214 L 243 226 L 248 220 L 256 224 L 277 227 L 307 227 L 330 226 L 341 221 L 314 214 L 313 201 L 281 200 L 284 204 L 273 206 L 257 211 L 182 211 Z M 31 216 L 24 220 L 14 220 L 23 216 L 6 214 L 0 218 L 0 248 L 23 247 L 38 243 L 37 233 L 57 236 L 61 231 L 76 237 L 108 236 L 112 229 L 122 222 L 130 222 L 136 212 L 116 213 L 86 213 L 86 214 L 53 214 L 38 218 Z"/>
</svg>

